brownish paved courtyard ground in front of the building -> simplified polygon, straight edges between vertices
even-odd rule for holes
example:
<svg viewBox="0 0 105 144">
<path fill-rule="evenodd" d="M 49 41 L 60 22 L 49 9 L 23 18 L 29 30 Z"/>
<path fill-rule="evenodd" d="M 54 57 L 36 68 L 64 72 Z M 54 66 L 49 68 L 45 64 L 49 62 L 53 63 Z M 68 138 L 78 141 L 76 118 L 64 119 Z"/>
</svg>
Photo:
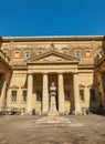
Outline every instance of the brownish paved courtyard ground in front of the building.
<svg viewBox="0 0 105 144">
<path fill-rule="evenodd" d="M 38 124 L 41 119 L 0 116 L 0 144 L 105 144 L 105 116 L 66 116 L 69 126 Z"/>
</svg>

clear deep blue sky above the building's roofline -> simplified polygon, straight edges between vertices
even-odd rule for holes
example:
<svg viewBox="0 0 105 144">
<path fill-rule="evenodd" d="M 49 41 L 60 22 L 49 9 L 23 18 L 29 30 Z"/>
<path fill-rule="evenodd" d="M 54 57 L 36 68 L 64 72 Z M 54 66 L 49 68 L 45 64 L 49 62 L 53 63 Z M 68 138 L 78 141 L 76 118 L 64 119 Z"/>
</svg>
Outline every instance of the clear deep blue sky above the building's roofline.
<svg viewBox="0 0 105 144">
<path fill-rule="evenodd" d="M 0 0 L 0 35 L 104 35 L 105 0 Z"/>
</svg>

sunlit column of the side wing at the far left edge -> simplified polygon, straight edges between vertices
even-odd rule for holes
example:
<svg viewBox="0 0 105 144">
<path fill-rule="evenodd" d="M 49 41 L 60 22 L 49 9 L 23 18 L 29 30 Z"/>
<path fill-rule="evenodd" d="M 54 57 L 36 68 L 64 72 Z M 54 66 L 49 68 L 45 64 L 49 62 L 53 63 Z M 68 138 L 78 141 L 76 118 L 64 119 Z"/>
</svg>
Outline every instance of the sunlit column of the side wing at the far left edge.
<svg viewBox="0 0 105 144">
<path fill-rule="evenodd" d="M 4 80 L 3 86 L 2 86 L 2 92 L 1 92 L 1 104 L 0 104 L 1 111 L 4 109 L 6 94 L 7 94 L 7 81 Z"/>
</svg>

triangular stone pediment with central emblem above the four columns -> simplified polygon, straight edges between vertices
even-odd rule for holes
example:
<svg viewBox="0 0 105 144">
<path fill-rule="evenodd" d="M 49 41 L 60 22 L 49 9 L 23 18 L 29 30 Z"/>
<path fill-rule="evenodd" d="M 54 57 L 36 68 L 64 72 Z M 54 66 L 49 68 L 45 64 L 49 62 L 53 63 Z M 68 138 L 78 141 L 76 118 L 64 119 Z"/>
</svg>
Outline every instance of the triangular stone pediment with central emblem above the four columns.
<svg viewBox="0 0 105 144">
<path fill-rule="evenodd" d="M 53 50 L 45 52 L 42 55 L 34 56 L 28 60 L 27 63 L 78 63 L 78 59 L 70 55 L 64 55 L 63 53 Z"/>
</svg>

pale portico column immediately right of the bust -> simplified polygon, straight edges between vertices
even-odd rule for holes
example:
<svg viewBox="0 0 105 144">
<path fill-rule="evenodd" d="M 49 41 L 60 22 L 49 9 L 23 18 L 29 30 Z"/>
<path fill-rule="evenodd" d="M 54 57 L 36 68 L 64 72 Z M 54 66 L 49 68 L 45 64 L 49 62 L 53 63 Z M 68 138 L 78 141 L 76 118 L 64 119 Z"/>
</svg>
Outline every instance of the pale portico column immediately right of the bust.
<svg viewBox="0 0 105 144">
<path fill-rule="evenodd" d="M 59 113 L 64 114 L 64 83 L 63 74 L 59 74 Z"/>
</svg>

